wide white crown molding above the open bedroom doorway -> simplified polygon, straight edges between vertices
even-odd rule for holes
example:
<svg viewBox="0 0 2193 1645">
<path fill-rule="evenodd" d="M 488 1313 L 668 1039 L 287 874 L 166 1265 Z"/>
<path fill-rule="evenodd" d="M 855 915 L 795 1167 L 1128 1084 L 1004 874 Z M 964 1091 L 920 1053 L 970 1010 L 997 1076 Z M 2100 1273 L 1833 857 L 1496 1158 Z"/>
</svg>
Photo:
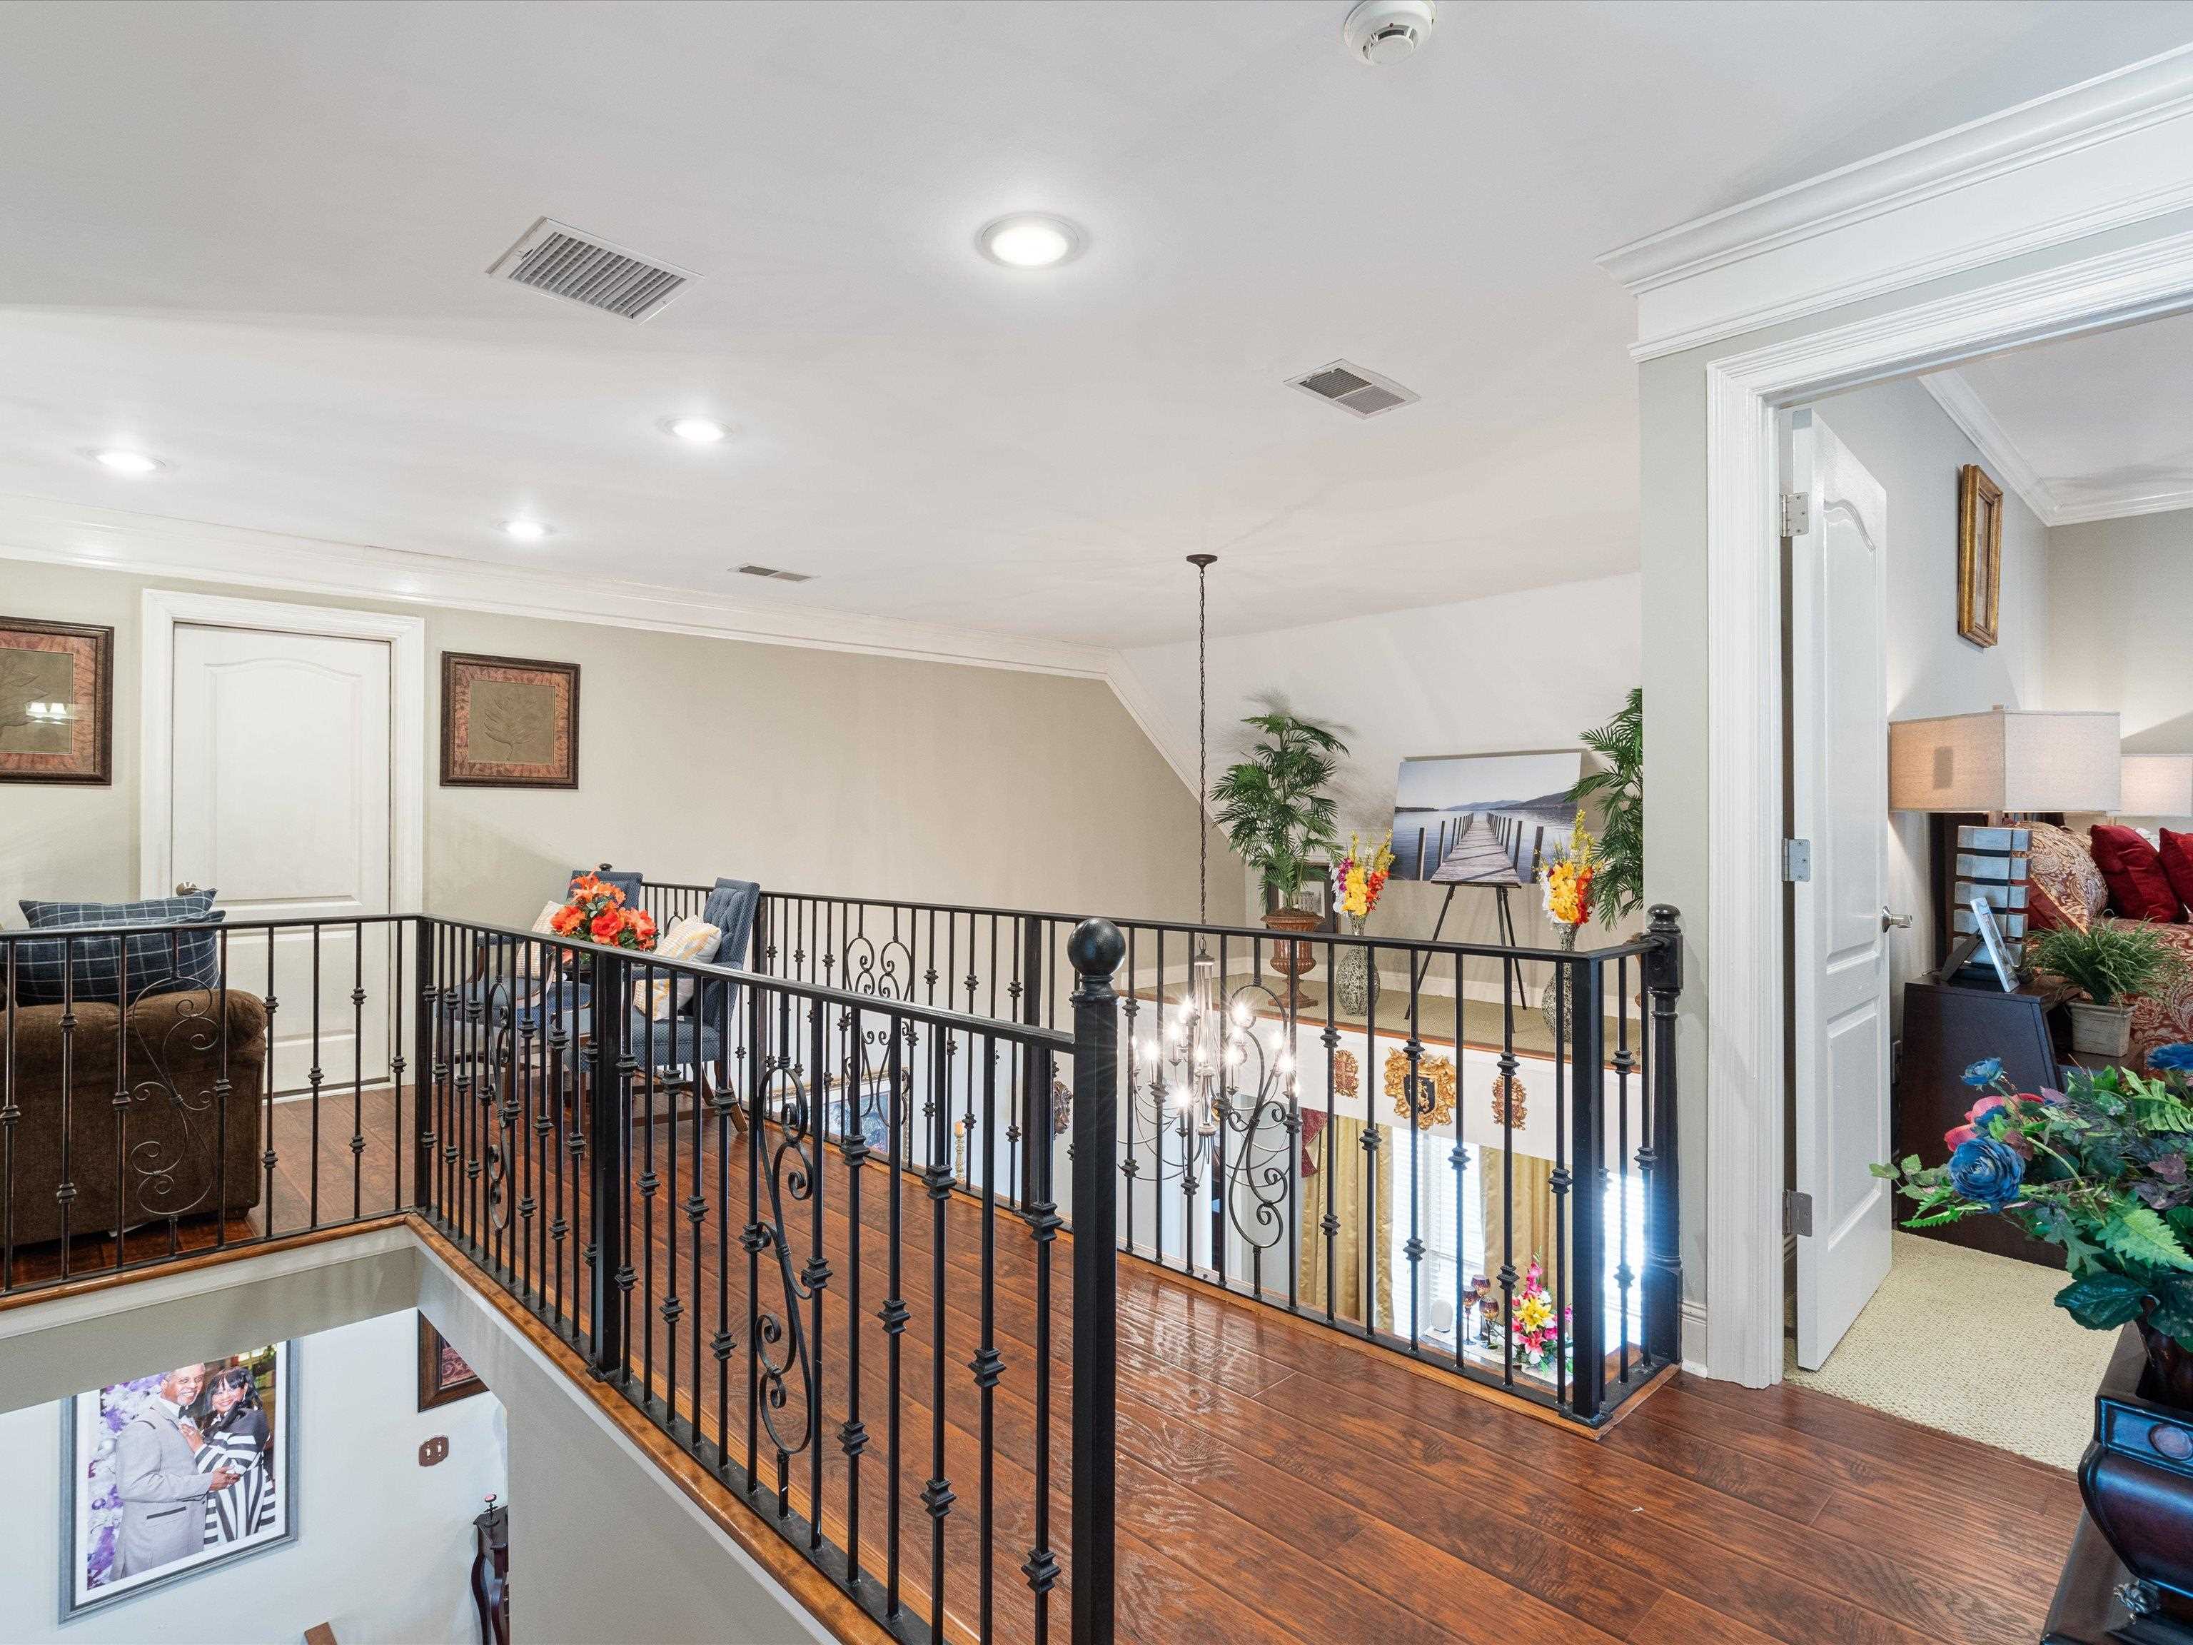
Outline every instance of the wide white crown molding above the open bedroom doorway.
<svg viewBox="0 0 2193 1645">
<path fill-rule="evenodd" d="M 1599 259 L 1651 360 L 2193 206 L 2193 46 Z"/>
</svg>

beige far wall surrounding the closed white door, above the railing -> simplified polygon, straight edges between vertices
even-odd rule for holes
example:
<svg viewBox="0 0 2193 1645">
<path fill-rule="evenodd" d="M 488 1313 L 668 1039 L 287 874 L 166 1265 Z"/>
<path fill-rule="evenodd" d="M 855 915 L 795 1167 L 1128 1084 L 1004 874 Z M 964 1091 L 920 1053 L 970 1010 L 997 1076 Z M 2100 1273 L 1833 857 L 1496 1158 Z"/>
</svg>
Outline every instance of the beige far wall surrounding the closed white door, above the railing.
<svg viewBox="0 0 2193 1645">
<path fill-rule="evenodd" d="M 138 645 L 147 586 L 0 559 L 0 612 L 114 627 L 114 785 L 0 787 L 0 919 L 18 897 L 138 895 Z M 292 601 L 224 588 L 243 599 Z M 656 880 L 1061 912 L 1195 910 L 1195 807 L 1101 680 L 421 612 L 425 906 L 529 923 L 577 862 Z M 441 651 L 577 662 L 579 787 L 441 787 Z M 1213 917 L 1239 919 L 1232 858 Z M 1217 873 L 1226 864 L 1224 873 Z"/>
</svg>

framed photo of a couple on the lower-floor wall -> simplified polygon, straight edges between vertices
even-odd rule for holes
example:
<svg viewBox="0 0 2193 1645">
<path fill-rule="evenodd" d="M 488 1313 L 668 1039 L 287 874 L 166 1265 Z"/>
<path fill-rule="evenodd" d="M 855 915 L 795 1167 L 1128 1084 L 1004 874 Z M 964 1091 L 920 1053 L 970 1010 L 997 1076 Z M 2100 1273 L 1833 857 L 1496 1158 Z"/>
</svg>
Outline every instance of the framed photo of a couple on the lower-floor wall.
<svg viewBox="0 0 2193 1645">
<path fill-rule="evenodd" d="M 296 1342 L 61 1406 L 61 1621 L 296 1540 Z"/>
</svg>

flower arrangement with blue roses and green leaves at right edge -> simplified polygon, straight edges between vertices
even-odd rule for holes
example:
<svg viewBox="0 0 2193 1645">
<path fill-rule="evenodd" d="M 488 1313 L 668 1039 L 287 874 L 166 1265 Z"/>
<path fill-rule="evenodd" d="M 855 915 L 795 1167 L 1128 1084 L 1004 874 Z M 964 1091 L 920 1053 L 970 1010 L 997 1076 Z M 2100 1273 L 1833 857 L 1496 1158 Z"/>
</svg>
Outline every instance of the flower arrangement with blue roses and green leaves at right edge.
<svg viewBox="0 0 2193 1645">
<path fill-rule="evenodd" d="M 2061 1246 L 2057 1307 L 2090 1331 L 2138 1323 L 2158 1373 L 2193 1391 L 2193 1044 L 2147 1066 L 2075 1068 L 2066 1090 L 2024 1092 L 1985 1057 L 1965 1070 L 1982 1094 L 1943 1134 L 1950 1158 L 1873 1173 L 1919 1202 L 1906 1228 L 2007 1215 Z"/>
</svg>

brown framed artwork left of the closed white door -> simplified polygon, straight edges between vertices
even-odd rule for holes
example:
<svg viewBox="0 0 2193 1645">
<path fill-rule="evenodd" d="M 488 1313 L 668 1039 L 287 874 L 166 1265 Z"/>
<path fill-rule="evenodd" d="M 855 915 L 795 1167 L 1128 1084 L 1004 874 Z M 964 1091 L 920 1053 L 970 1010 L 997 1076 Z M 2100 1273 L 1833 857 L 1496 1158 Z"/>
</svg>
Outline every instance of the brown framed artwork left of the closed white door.
<svg viewBox="0 0 2193 1645">
<path fill-rule="evenodd" d="M 0 616 L 0 783 L 114 781 L 114 629 Z"/>
</svg>

